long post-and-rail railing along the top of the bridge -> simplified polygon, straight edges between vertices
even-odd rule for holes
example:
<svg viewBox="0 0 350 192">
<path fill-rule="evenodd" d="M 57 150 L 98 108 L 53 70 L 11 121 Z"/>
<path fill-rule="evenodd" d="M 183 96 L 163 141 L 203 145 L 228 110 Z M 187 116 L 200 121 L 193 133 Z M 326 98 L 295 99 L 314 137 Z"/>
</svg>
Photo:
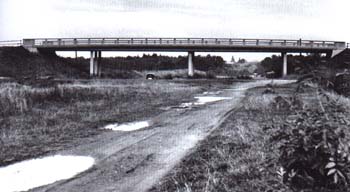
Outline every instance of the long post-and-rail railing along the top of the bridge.
<svg viewBox="0 0 350 192">
<path fill-rule="evenodd" d="M 345 48 L 345 42 L 284 39 L 232 39 L 232 38 L 61 38 L 27 39 L 34 47 L 65 47 L 91 45 L 167 45 L 167 46 L 260 46 L 301 48 Z"/>
</svg>

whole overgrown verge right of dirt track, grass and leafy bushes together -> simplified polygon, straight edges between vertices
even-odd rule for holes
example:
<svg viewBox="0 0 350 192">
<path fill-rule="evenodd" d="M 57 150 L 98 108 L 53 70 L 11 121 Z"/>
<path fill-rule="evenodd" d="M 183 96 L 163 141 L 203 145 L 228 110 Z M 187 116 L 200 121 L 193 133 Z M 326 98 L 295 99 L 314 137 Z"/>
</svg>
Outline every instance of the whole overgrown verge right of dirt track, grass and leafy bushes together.
<svg viewBox="0 0 350 192">
<path fill-rule="evenodd" d="M 318 164 L 328 153 L 320 155 L 310 142 L 321 140 L 323 132 L 319 130 L 327 124 L 320 120 L 324 114 L 327 122 L 340 128 L 349 140 L 350 99 L 329 92 L 321 97 L 316 88 L 307 86 L 296 90 L 296 84 L 275 87 L 272 93 L 267 93 L 265 87 L 249 90 L 241 106 L 221 127 L 150 191 L 346 191 L 341 176 L 337 177 L 337 184 L 333 183 L 335 176 L 329 163 Z M 335 103 L 328 105 L 330 100 Z M 323 109 L 325 113 L 317 112 Z M 297 115 L 303 116 L 298 119 Z M 341 125 L 340 117 L 348 122 L 347 126 Z M 318 147 L 322 149 L 322 145 Z M 282 165 L 295 162 L 302 162 L 295 168 L 299 168 L 297 171 L 284 173 L 285 169 L 281 169 Z M 336 166 L 346 170 L 340 163 Z M 333 174 L 328 175 L 329 172 Z M 322 183 L 315 179 L 320 174 L 325 179 L 319 179 Z"/>
</svg>

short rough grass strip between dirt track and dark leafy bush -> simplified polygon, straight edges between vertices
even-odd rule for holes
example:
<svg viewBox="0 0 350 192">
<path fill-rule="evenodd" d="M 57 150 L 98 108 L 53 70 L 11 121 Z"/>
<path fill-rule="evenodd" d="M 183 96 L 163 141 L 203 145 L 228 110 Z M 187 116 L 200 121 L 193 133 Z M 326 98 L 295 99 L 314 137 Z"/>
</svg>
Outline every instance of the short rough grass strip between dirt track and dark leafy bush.
<svg viewBox="0 0 350 192">
<path fill-rule="evenodd" d="M 277 95 L 249 91 L 228 119 L 150 191 L 269 191 L 282 188 L 267 169 L 271 151 L 262 125 Z M 271 179 L 272 178 L 272 179 Z"/>
</svg>

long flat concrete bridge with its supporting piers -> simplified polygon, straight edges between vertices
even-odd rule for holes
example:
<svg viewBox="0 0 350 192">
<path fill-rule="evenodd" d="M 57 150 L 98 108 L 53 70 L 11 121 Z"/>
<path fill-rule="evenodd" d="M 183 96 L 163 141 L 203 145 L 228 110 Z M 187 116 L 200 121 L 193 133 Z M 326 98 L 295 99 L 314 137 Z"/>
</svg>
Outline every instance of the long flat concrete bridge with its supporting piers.
<svg viewBox="0 0 350 192">
<path fill-rule="evenodd" d="M 233 38 L 50 38 L 23 39 L 22 46 L 32 52 L 90 51 L 90 74 L 101 74 L 102 51 L 188 52 L 188 75 L 193 76 L 195 52 L 278 52 L 287 75 L 287 53 L 326 53 L 333 57 L 344 49 L 345 42 L 233 39 Z"/>
</svg>

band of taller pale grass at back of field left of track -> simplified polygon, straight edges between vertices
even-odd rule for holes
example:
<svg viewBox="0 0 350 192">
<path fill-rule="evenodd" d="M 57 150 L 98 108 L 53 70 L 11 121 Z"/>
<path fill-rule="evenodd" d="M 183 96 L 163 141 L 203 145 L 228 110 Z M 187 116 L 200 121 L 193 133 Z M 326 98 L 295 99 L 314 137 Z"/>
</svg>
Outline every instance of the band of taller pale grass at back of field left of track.
<svg viewBox="0 0 350 192">
<path fill-rule="evenodd" d="M 33 88 L 17 83 L 0 84 L 0 115 L 9 116 L 30 111 L 34 105 L 45 102 L 94 101 L 103 99 L 125 100 L 136 97 L 152 97 L 170 94 L 178 90 L 193 91 L 195 88 L 169 83 L 113 84 L 93 81 L 91 83 L 61 84 L 49 88 Z M 131 94 L 131 95 L 130 95 Z"/>
</svg>

